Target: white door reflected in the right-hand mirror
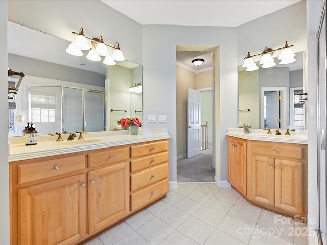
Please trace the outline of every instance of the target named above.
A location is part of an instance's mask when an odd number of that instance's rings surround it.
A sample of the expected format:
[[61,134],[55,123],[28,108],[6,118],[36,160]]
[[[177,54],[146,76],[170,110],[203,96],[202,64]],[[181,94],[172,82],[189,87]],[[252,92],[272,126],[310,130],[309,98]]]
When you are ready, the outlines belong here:
[[279,91],[265,94],[266,97],[266,118],[265,128],[278,129],[279,125]]

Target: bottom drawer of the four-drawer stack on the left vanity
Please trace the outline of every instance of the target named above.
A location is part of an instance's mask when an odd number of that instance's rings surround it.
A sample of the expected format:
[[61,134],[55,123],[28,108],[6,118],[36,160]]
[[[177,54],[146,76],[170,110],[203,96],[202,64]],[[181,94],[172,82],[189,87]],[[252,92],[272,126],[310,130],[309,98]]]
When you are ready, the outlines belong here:
[[158,198],[164,196],[169,191],[168,179],[162,180],[143,190],[131,194],[131,211],[146,206]]

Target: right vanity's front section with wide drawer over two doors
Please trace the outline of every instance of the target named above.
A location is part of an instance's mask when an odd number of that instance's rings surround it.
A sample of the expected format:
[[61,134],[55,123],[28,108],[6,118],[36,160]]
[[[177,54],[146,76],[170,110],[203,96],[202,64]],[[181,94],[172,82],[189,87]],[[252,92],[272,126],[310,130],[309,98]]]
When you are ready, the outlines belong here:
[[277,212],[306,216],[307,147],[248,141],[248,152],[247,198]]

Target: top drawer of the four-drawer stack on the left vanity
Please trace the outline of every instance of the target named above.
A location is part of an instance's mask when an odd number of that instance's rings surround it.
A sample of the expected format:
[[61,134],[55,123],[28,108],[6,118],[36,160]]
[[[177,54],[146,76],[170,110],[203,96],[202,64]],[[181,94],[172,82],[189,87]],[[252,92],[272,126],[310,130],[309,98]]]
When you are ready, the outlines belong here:
[[131,158],[168,151],[168,141],[135,145],[131,147]]

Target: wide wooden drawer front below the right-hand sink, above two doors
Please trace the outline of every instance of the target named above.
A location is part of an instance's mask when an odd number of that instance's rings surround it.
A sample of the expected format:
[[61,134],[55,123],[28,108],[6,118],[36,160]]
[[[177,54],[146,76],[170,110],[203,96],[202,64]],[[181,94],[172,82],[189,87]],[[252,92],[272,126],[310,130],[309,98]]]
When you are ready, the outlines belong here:
[[286,143],[267,143],[252,141],[252,154],[268,155],[273,157],[285,157],[292,159],[303,159],[304,149],[301,145]]

